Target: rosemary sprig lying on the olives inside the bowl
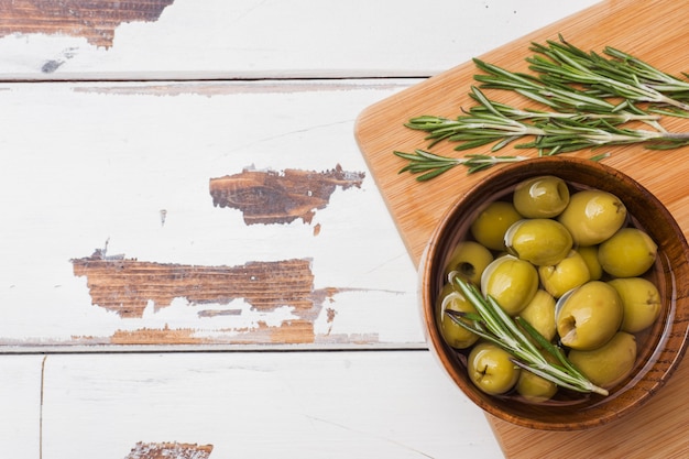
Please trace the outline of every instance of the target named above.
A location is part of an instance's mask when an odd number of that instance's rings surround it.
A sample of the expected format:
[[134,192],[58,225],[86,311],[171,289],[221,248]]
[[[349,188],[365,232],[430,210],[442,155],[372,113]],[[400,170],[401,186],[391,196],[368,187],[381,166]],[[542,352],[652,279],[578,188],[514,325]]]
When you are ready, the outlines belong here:
[[[581,374],[560,348],[550,343],[527,321],[521,319],[515,321],[492,296],[484,297],[473,284],[463,281],[461,276],[450,274],[450,280],[478,312],[478,315],[472,315],[446,310],[446,314],[459,326],[510,352],[514,358],[514,363],[518,367],[561,387],[577,392],[609,394],[605,389],[597,386]],[[523,327],[528,336],[520,327]],[[555,357],[559,364],[549,362],[529,338],[533,338],[543,351]]]

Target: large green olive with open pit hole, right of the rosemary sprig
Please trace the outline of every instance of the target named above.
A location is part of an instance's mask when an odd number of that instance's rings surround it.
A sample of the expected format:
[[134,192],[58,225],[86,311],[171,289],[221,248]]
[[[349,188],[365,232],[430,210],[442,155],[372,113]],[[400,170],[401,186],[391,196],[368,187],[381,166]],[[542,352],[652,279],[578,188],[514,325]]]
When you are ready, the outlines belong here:
[[557,304],[557,332],[562,345],[592,350],[608,342],[622,323],[622,299],[611,285],[591,281],[570,291]]

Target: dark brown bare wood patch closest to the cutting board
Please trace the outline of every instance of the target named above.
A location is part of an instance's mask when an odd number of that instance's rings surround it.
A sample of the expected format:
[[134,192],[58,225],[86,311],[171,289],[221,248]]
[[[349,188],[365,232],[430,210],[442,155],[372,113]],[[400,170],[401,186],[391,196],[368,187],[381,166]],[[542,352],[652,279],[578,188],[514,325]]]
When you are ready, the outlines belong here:
[[364,176],[362,172],[342,171],[339,164],[326,172],[244,170],[211,178],[210,196],[216,207],[240,210],[247,225],[289,223],[299,218],[310,223],[316,210],[328,205],[338,186],[360,187]]

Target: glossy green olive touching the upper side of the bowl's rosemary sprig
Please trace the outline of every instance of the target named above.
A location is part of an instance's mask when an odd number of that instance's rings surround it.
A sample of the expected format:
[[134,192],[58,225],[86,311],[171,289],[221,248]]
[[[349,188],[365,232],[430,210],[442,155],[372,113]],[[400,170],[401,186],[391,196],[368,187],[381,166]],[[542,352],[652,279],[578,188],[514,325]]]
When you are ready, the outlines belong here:
[[538,272],[527,261],[512,255],[495,259],[481,276],[481,292],[491,295],[510,315],[516,315],[538,289]]

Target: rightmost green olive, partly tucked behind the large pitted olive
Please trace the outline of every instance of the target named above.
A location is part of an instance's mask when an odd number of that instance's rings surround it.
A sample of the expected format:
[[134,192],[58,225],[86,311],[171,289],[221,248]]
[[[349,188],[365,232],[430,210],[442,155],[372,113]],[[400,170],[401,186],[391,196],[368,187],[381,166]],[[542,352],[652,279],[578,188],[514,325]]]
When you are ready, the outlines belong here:
[[653,282],[644,277],[620,277],[608,283],[622,298],[622,331],[635,334],[656,321],[660,315],[660,294]]

